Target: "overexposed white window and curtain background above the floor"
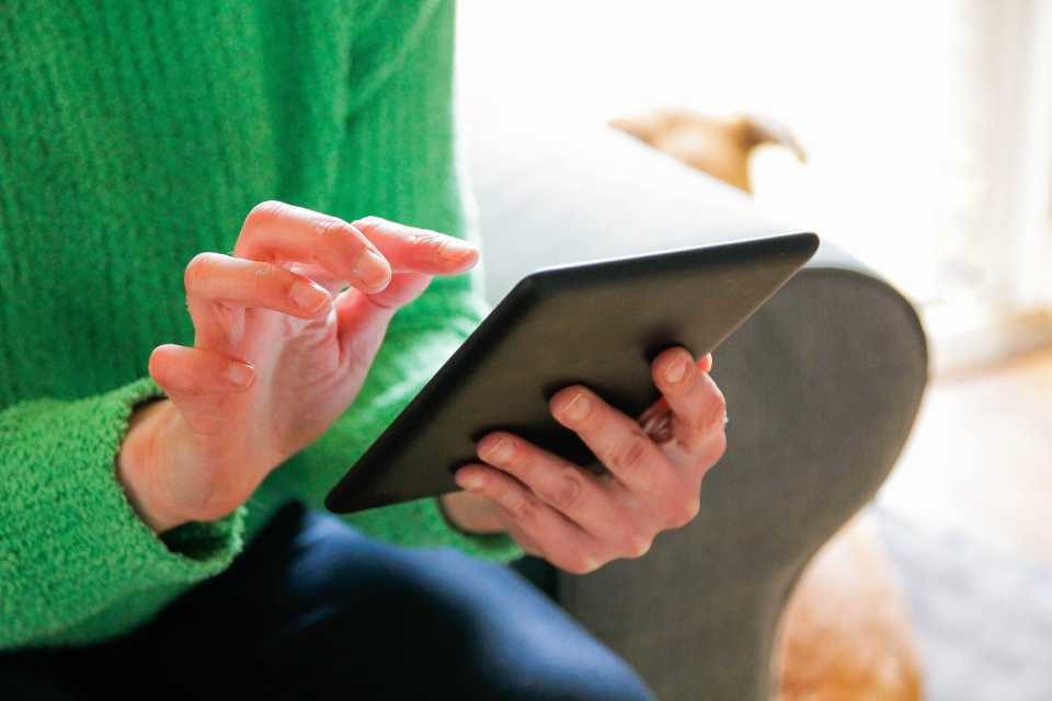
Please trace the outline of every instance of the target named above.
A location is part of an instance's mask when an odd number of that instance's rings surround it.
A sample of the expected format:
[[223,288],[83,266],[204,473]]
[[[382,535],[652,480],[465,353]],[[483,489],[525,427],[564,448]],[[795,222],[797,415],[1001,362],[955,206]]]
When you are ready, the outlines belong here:
[[[758,203],[879,269],[929,329],[1052,302],[1047,2],[467,0],[460,18],[464,89],[539,123],[668,106],[784,123],[808,163],[756,153]],[[1017,343],[1052,341],[1043,322]]]

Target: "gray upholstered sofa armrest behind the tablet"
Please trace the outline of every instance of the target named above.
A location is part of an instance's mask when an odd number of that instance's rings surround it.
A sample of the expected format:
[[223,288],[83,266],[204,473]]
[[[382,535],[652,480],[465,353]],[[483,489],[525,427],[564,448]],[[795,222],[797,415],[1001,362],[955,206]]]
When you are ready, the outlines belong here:
[[[461,133],[493,302],[541,265],[796,230],[601,125],[539,127],[469,105]],[[782,605],[891,470],[926,359],[906,300],[824,243],[714,354],[729,448],[699,517],[642,559],[586,576],[535,562],[534,578],[660,698],[769,698]]]

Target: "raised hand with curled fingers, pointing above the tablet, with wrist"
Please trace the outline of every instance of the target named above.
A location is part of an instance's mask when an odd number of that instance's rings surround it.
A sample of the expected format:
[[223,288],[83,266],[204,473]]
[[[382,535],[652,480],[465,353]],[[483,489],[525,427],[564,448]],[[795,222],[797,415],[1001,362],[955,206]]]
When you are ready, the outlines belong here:
[[244,503],[351,405],[395,312],[478,255],[378,217],[253,208],[232,256],[201,253],[186,266],[194,346],[150,356],[168,399],[135,413],[117,457],[144,520],[162,532]]

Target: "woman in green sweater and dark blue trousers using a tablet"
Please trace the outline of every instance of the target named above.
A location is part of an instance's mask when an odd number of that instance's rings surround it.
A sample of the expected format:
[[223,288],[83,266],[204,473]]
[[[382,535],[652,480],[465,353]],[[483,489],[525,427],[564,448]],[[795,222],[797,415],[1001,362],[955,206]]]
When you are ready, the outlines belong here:
[[499,563],[690,520],[708,356],[654,360],[660,443],[552,398],[610,479],[492,434],[465,492],[319,510],[487,312],[451,2],[8,3],[0,33],[0,686],[648,698]]

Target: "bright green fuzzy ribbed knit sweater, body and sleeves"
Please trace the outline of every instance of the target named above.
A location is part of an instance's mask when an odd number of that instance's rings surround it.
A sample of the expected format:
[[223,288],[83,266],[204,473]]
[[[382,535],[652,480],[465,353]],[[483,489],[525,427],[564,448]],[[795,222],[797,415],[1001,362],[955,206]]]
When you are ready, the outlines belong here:
[[[115,457],[146,366],[193,345],[183,269],[256,203],[477,241],[453,114],[454,8],[389,2],[0,0],[0,648],[125,632],[222,572],[288,499],[321,506],[489,308],[481,268],[393,319],[365,386],[249,503],[159,538]],[[435,499],[347,517],[507,561]]]

